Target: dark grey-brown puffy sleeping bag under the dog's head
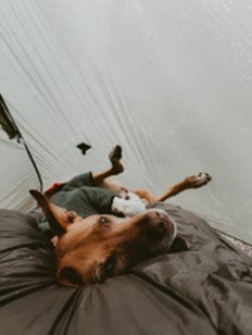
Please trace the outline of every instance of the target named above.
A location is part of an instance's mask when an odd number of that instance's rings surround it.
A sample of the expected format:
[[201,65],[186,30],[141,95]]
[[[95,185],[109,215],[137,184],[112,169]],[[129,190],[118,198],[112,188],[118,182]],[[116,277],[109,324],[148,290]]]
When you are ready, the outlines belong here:
[[251,334],[252,262],[206,222],[177,222],[173,249],[103,284],[62,287],[52,245],[32,215],[0,211],[2,334]]

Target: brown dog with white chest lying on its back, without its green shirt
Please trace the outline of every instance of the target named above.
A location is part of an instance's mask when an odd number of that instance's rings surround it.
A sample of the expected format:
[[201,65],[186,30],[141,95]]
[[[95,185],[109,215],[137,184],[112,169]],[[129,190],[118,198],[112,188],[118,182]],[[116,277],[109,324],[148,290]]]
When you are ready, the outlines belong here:
[[[71,206],[68,200],[65,202],[67,209],[59,206],[64,204],[62,191],[58,197],[58,201],[61,201],[55,204],[53,198],[49,200],[42,193],[30,190],[56,236],[56,280],[63,286],[102,283],[109,277],[126,273],[151,257],[167,252],[176,236],[176,223],[165,211],[148,209],[148,206],[164,201],[185,189],[201,187],[211,179],[207,173],[192,175],[161,197],[154,197],[148,190],[128,190],[110,178],[124,171],[121,159],[122,148],[116,146],[110,154],[111,167],[102,173],[89,174],[91,186],[80,186],[78,178],[70,182],[68,186],[66,183],[66,193],[70,193],[72,201]],[[79,215],[74,208],[72,210],[75,203],[73,197],[78,194],[78,190],[70,187],[75,185],[81,191],[92,190],[93,187],[98,194],[108,191],[109,196],[113,195],[111,213],[98,212],[85,216]],[[99,199],[102,201],[103,196]]]

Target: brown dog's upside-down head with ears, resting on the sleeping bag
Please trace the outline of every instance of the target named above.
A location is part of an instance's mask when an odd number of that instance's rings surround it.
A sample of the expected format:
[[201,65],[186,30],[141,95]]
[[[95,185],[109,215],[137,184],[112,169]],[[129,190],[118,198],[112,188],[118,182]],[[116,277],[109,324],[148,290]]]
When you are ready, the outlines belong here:
[[91,215],[86,219],[52,204],[30,190],[58,236],[56,277],[62,285],[101,283],[155,255],[166,252],[176,225],[167,213],[151,209],[130,219]]

